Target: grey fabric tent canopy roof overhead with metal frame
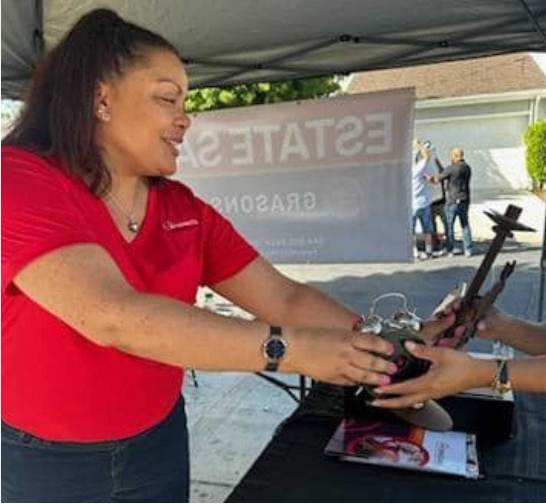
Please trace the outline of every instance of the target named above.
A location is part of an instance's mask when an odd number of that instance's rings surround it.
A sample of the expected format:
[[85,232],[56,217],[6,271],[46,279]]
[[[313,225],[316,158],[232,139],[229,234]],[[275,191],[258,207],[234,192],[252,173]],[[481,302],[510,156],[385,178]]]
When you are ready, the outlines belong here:
[[104,6],[171,41],[191,87],[546,47],[543,0],[4,0],[2,97],[19,97],[43,50]]

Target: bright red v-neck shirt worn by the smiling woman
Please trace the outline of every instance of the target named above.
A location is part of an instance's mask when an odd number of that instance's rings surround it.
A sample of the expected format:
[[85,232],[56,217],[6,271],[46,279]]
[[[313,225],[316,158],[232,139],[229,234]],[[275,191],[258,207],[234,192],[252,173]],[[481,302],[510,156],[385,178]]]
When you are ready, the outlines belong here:
[[2,148],[2,420],[47,440],[122,439],[168,415],[183,371],[94,344],[13,284],[32,260],[75,243],[103,247],[136,290],[188,304],[199,285],[229,278],[258,253],[185,185],[167,180],[149,188],[145,220],[127,242],[79,179]]

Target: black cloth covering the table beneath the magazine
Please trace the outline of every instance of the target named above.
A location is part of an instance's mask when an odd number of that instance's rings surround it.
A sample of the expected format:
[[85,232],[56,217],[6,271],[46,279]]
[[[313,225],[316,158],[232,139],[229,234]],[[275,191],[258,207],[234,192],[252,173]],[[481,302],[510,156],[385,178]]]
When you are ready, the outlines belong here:
[[544,406],[542,394],[516,395],[517,434],[478,443],[483,477],[476,481],[327,457],[343,391],[319,383],[226,502],[546,502]]

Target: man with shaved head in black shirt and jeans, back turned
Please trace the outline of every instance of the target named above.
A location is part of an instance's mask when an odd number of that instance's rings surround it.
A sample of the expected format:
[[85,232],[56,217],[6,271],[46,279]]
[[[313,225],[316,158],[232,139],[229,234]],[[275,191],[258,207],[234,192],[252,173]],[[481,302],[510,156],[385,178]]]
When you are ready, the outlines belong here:
[[[472,255],[472,233],[468,222],[468,207],[470,206],[470,177],[472,170],[464,159],[461,147],[454,147],[450,153],[451,164],[439,176],[431,177],[430,181],[441,183],[447,181],[446,198],[446,251],[453,255],[455,218],[459,217],[462,228],[462,243],[465,255]],[[439,162],[439,161],[438,161]]]

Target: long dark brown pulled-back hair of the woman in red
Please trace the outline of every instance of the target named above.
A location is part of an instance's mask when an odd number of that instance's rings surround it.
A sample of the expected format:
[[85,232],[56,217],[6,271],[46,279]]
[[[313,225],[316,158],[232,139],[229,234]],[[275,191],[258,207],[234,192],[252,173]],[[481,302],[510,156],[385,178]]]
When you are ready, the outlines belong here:
[[105,77],[120,77],[145,62],[153,49],[177,53],[160,35],[121,19],[109,9],[80,18],[35,70],[25,108],[2,145],[55,157],[93,193],[110,187],[110,173],[94,142],[94,95]]

